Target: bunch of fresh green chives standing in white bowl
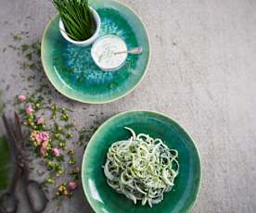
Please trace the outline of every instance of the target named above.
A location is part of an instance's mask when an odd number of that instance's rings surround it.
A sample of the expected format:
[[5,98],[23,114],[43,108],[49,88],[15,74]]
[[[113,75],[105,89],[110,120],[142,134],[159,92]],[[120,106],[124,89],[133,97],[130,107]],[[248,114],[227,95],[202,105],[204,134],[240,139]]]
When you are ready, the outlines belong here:
[[72,40],[85,41],[96,31],[96,21],[88,0],[53,0],[65,31]]

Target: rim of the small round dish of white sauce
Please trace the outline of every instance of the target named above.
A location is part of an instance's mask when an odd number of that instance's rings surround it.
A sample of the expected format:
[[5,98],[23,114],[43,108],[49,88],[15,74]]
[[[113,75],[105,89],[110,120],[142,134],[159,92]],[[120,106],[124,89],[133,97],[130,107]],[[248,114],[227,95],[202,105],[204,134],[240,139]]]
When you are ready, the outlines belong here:
[[114,35],[114,34],[107,34],[107,35],[103,35],[103,36],[99,37],[96,40],[96,42],[93,44],[92,49],[91,49],[91,56],[93,57],[93,59],[94,59],[94,61],[96,63],[96,66],[99,67],[100,69],[104,70],[104,71],[114,71],[114,70],[120,69],[124,65],[124,63],[125,63],[125,61],[127,59],[128,53],[123,58],[123,61],[122,61],[122,63],[120,65],[118,65],[117,67],[110,68],[110,69],[107,69],[107,68],[104,68],[104,67],[100,66],[100,64],[95,59],[95,56],[93,55],[93,52],[95,52],[94,50],[96,48],[96,44],[98,44],[99,42],[101,42],[105,38],[115,38],[115,39],[118,39],[120,42],[122,42],[122,44],[125,45],[125,50],[123,50],[123,51],[127,51],[128,50],[127,44],[122,40],[122,38],[120,38],[119,36]]

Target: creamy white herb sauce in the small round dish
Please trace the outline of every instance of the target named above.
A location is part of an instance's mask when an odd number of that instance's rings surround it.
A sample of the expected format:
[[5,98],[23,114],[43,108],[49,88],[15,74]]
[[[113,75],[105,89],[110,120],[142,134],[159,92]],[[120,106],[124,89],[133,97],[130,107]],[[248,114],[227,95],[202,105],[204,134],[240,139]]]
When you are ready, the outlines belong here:
[[126,44],[116,35],[100,37],[92,47],[92,57],[100,69],[113,70],[122,66],[127,58],[127,53],[115,54],[127,51]]

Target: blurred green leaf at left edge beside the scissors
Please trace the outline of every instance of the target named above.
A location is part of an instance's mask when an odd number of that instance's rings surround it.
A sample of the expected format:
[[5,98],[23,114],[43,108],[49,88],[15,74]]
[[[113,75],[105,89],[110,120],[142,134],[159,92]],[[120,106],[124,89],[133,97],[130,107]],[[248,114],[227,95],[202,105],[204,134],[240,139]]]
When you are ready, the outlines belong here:
[[0,136],[0,194],[6,191],[12,176],[12,162],[5,136]]

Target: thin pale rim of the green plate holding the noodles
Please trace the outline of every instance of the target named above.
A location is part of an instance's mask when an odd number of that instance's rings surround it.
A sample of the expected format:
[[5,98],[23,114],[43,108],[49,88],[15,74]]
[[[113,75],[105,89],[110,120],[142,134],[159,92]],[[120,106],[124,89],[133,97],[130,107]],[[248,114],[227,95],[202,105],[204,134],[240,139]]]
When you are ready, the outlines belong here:
[[103,122],[103,123],[97,128],[96,132],[95,132],[95,133],[93,134],[93,136],[91,137],[91,139],[90,139],[89,143],[87,144],[86,149],[85,149],[85,151],[84,151],[84,153],[83,153],[81,177],[82,177],[82,184],[83,184],[83,192],[84,192],[84,194],[85,194],[85,196],[86,196],[87,201],[89,202],[90,206],[94,209],[94,211],[96,211],[96,207],[93,205],[93,201],[90,199],[90,196],[89,196],[89,194],[88,194],[88,192],[87,192],[87,190],[86,190],[86,188],[85,188],[85,183],[84,183],[84,181],[83,181],[83,180],[84,180],[84,176],[86,175],[86,174],[83,172],[83,171],[84,171],[83,165],[85,164],[85,160],[86,160],[85,158],[86,158],[87,152],[89,152],[88,150],[89,150],[91,144],[93,143],[94,138],[96,137],[96,133],[99,132],[105,125],[107,125],[107,124],[108,124],[110,121],[112,121],[113,119],[116,119],[116,118],[118,118],[118,117],[120,117],[120,116],[123,116],[123,115],[125,115],[125,114],[135,113],[135,112],[153,113],[153,114],[157,114],[157,115],[160,115],[160,116],[162,116],[162,117],[165,117],[165,118],[171,120],[172,122],[174,122],[176,125],[178,125],[178,126],[186,133],[186,135],[190,138],[192,144],[194,144],[195,149],[196,149],[197,154],[198,154],[198,161],[199,161],[199,179],[198,179],[198,188],[197,188],[197,191],[196,191],[196,193],[197,193],[197,194],[196,194],[196,197],[195,197],[194,200],[192,200],[192,202],[189,204],[189,206],[188,206],[187,209],[186,209],[186,210],[189,212],[189,211],[192,209],[192,207],[195,205],[196,201],[198,200],[198,194],[199,194],[199,192],[200,192],[200,187],[201,187],[201,178],[202,178],[202,171],[201,171],[201,168],[202,168],[202,164],[201,164],[201,157],[200,157],[200,153],[199,153],[199,150],[198,150],[198,146],[197,146],[197,144],[194,142],[194,140],[193,140],[193,138],[191,137],[191,135],[186,132],[186,129],[183,128],[183,127],[177,122],[177,120],[171,118],[170,116],[167,116],[167,115],[164,114],[164,113],[160,113],[160,112],[153,111],[153,110],[143,110],[143,109],[141,109],[141,110],[124,111],[124,112],[118,113],[117,115],[114,115],[113,117],[107,119],[105,122]]

